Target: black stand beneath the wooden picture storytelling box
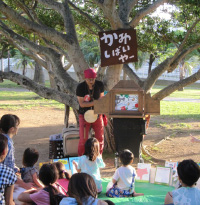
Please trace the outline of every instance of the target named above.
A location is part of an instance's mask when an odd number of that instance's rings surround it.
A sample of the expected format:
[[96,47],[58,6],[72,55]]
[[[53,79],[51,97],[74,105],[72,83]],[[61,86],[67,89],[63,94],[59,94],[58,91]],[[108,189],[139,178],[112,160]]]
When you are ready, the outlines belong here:
[[145,120],[141,118],[114,118],[113,129],[116,151],[129,149],[136,158],[140,155],[140,145],[145,134]]

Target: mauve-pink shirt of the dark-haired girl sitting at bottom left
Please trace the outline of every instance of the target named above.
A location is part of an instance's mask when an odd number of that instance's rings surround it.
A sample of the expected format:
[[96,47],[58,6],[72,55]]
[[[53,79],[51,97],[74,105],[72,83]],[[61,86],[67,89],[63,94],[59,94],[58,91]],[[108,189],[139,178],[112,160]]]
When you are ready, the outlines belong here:
[[36,193],[30,194],[30,198],[38,205],[50,205],[49,193],[43,189]]

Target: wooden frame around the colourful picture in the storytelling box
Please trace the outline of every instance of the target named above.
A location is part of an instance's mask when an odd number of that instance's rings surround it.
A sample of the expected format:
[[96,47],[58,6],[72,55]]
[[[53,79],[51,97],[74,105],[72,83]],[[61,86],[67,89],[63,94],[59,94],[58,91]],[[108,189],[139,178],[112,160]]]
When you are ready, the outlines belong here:
[[[129,109],[128,108],[128,103],[129,101],[126,101],[126,102],[122,102],[122,108],[124,107],[124,109],[121,109],[121,110],[118,110],[118,108],[116,108],[116,100],[117,100],[117,97],[119,95],[122,95],[122,98],[123,96],[127,96],[127,98],[130,97],[130,99],[132,99],[133,96],[136,96],[137,97],[137,100],[134,102],[136,103],[137,102],[137,109],[135,110],[131,110],[131,108]],[[144,107],[144,101],[143,101],[143,91],[125,91],[125,90],[114,90],[111,92],[111,100],[110,100],[110,116],[112,117],[123,117],[126,116],[127,118],[129,117],[143,117],[144,115],[144,112],[143,112],[143,107]],[[134,105],[134,104],[133,104]]]

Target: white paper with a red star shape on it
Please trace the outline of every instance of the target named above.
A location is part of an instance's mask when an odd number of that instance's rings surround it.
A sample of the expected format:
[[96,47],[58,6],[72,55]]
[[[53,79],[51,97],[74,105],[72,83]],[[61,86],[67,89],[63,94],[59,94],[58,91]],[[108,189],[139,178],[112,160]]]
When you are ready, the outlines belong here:
[[138,163],[136,180],[149,182],[151,164]]

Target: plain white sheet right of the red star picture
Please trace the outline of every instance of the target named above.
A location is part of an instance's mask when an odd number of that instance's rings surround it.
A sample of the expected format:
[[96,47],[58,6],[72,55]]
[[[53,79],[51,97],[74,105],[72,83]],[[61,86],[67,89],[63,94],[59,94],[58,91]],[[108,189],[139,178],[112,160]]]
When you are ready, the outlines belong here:
[[157,167],[155,183],[169,185],[171,177],[171,167]]

